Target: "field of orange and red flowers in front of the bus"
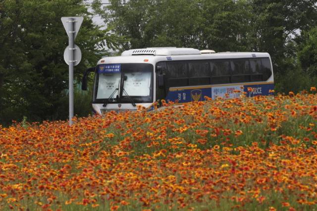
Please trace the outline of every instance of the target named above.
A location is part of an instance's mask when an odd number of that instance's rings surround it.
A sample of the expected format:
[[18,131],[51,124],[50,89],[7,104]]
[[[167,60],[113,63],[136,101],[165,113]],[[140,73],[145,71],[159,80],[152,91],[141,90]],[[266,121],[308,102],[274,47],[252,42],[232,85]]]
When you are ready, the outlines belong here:
[[317,210],[316,94],[166,106],[0,126],[0,210]]

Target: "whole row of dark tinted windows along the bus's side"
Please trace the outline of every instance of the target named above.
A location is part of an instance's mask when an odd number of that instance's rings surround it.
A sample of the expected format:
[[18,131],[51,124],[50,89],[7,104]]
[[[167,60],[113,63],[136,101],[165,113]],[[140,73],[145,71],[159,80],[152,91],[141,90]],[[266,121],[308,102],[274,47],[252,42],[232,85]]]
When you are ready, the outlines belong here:
[[266,81],[272,74],[269,58],[164,61],[157,65],[169,87]]

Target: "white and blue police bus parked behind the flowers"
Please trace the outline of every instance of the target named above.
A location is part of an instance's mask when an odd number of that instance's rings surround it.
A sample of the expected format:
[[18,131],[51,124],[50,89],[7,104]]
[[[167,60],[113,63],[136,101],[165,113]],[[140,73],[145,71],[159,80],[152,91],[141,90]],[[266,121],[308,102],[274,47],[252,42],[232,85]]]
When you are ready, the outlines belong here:
[[[207,53],[205,53],[207,52]],[[271,95],[273,69],[268,53],[211,53],[190,48],[147,48],[100,59],[87,69],[95,73],[94,112],[151,109],[164,99],[179,104],[204,101],[204,96],[235,98]],[[249,88],[249,91],[248,91]]]

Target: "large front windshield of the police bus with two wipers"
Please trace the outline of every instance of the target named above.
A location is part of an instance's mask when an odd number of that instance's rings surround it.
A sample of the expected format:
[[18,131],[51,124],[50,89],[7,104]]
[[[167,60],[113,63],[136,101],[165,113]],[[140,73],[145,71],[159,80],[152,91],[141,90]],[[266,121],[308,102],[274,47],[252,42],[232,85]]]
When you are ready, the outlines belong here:
[[153,103],[152,64],[101,64],[97,66],[94,102]]

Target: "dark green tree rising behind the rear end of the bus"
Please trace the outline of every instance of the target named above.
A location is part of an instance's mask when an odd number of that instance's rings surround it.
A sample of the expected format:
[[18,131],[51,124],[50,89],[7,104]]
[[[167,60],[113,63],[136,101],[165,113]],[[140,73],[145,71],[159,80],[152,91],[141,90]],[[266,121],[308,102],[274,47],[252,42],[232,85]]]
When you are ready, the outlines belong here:
[[[279,73],[287,54],[288,45],[301,31],[316,26],[317,0],[251,0],[252,50],[268,52]],[[289,53],[289,52],[288,52]],[[293,53],[296,53],[293,52]]]

